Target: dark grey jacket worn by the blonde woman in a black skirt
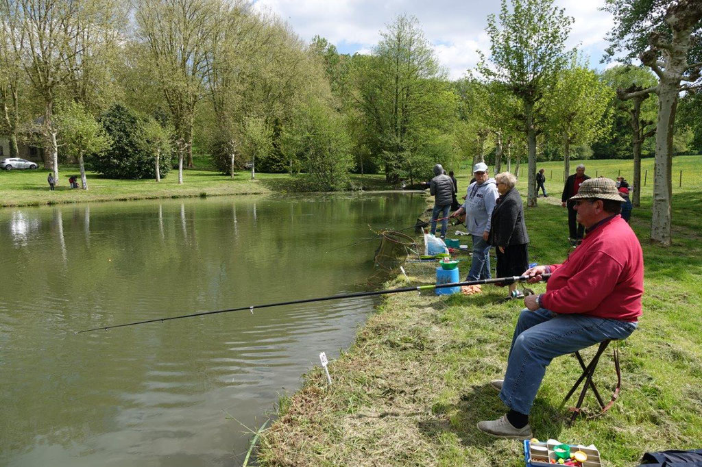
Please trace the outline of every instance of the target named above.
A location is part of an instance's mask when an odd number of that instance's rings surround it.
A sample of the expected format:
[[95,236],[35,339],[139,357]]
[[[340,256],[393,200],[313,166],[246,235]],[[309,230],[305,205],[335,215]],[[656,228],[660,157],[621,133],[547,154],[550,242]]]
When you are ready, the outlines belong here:
[[488,243],[495,247],[529,243],[527,225],[524,224],[524,204],[516,188],[497,198]]

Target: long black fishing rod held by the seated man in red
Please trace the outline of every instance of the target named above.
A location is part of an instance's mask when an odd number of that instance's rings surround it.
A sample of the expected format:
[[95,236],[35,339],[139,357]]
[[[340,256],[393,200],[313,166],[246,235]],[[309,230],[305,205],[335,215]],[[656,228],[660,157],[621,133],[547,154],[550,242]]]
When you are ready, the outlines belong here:
[[[548,278],[548,276],[550,276],[550,274],[541,274],[542,280]],[[512,277],[503,277],[503,278],[494,278],[494,279],[468,280],[468,281],[464,281],[464,282],[453,282],[453,283],[447,283],[447,284],[417,285],[416,287],[402,287],[399,289],[376,290],[373,292],[354,292],[354,293],[343,294],[343,295],[330,295],[329,297],[318,297],[318,298],[312,298],[312,299],[291,300],[289,302],[277,302],[277,303],[269,303],[269,304],[263,304],[263,305],[239,306],[239,308],[230,308],[230,309],[217,310],[217,311],[203,311],[201,313],[191,313],[189,315],[180,315],[180,316],[171,316],[168,318],[156,318],[156,319],[152,319],[152,320],[135,321],[133,323],[124,323],[121,325],[93,327],[92,329],[78,331],[76,334],[81,334],[82,332],[92,332],[92,331],[100,331],[100,330],[107,331],[108,329],[114,329],[115,327],[135,326],[135,325],[146,324],[146,323],[158,323],[159,321],[161,323],[163,323],[164,321],[169,321],[169,320],[179,320],[181,318],[194,318],[195,316],[216,315],[218,313],[230,313],[231,311],[249,310],[249,311],[251,311],[251,313],[253,313],[254,309],[270,308],[272,306],[295,305],[295,304],[312,303],[312,302],[326,302],[327,300],[338,300],[338,299],[345,299],[345,298],[373,297],[374,295],[397,294],[400,292],[421,292],[422,290],[435,290],[435,289],[443,289],[446,287],[462,287],[464,285],[483,285],[483,284],[494,284],[494,283],[503,283],[503,284],[507,285],[507,284],[512,284],[515,282],[526,282],[529,279],[531,279],[531,277],[529,277],[529,276],[512,276]]]

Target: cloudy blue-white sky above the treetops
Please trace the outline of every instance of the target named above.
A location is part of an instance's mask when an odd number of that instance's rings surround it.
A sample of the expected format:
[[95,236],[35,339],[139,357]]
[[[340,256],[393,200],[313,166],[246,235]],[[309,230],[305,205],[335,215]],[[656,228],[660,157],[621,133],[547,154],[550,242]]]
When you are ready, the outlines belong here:
[[[575,19],[567,46],[578,46],[590,58],[590,67],[602,70],[607,47],[605,34],[613,27],[609,13],[599,11],[604,0],[555,0]],[[451,79],[475,67],[476,50],[489,53],[485,33],[487,15],[497,14],[498,0],[256,0],[254,8],[272,12],[309,42],[319,35],[340,53],[370,53],[397,15],[416,16],[439,62]]]

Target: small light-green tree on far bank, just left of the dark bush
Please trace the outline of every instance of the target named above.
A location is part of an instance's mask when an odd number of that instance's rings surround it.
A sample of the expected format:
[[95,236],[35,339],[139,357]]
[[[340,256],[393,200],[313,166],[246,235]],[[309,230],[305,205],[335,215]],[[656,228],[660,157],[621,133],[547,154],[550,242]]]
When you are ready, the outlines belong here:
[[105,128],[81,104],[71,102],[55,116],[58,137],[63,150],[78,156],[81,185],[88,189],[84,156],[99,156],[112,146],[112,138]]

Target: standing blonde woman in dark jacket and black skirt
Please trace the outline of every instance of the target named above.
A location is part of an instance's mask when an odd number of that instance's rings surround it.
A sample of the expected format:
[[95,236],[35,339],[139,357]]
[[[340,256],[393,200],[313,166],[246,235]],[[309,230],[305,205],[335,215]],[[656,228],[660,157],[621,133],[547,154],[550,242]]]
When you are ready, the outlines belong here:
[[[492,211],[488,242],[497,253],[497,277],[521,276],[529,269],[527,226],[524,224],[524,205],[515,188],[517,178],[510,172],[495,175],[500,197]],[[517,288],[510,284],[510,295]]]

